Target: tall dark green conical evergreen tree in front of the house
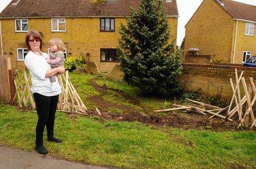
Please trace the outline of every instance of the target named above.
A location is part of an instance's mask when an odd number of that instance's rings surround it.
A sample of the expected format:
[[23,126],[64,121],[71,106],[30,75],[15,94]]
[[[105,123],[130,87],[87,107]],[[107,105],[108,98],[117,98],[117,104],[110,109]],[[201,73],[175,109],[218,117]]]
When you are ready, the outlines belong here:
[[181,58],[175,42],[168,43],[170,27],[162,1],[142,0],[126,22],[119,29],[117,50],[125,81],[146,95],[176,95]]

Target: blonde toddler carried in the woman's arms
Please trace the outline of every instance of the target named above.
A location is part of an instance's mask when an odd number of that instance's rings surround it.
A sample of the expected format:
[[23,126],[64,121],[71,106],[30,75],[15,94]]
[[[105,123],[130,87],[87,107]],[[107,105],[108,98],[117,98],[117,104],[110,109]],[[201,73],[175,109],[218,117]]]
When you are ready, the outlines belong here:
[[[59,66],[64,66],[64,43],[60,39],[54,38],[49,41],[49,55],[47,57],[48,64],[51,64],[52,69]],[[50,77],[51,82],[56,81],[56,75]]]

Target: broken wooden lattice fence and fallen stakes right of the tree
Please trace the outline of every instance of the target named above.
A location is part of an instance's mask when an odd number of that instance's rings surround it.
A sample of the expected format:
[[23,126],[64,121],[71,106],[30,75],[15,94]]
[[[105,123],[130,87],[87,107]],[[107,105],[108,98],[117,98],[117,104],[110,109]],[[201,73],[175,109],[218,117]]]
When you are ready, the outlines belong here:
[[[240,126],[250,126],[250,129],[256,128],[256,117],[254,117],[253,112],[253,105],[256,101],[256,87],[253,82],[253,78],[249,78],[249,87],[247,88],[245,78],[243,77],[243,71],[238,78],[237,69],[235,69],[235,77],[236,85],[234,85],[232,78],[229,79],[233,91],[233,96],[228,107],[221,108],[214,105],[198,102],[196,100],[187,99],[187,104],[173,104],[175,106],[174,108],[161,109],[155,112],[170,112],[179,110],[197,112],[202,115],[210,114],[212,116],[210,116],[209,119],[216,116],[228,121],[238,121],[238,128]],[[240,89],[241,81],[243,90]],[[241,97],[242,94],[244,94],[243,97]]]

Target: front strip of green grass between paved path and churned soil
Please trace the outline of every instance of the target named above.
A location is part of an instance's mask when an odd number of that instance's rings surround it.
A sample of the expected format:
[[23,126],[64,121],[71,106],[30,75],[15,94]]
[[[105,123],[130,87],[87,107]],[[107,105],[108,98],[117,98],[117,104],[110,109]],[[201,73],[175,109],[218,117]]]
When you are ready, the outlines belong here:
[[[0,143],[34,150],[36,113],[2,104]],[[127,168],[256,167],[256,133],[212,132],[146,126],[139,122],[99,121],[56,115],[55,135],[45,142],[53,157]],[[46,137],[44,137],[46,140]]]

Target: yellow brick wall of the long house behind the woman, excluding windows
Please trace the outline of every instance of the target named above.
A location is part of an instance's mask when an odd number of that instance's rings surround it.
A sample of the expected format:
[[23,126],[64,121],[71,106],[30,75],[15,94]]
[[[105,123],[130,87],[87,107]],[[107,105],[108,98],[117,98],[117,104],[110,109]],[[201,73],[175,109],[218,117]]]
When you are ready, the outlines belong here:
[[[24,18],[26,19],[26,18]],[[98,65],[101,72],[109,72],[119,62],[101,62],[101,48],[117,48],[120,22],[124,18],[115,18],[115,32],[100,32],[100,18],[68,18],[66,32],[52,32],[51,19],[28,19],[28,29],[43,33],[43,51],[48,52],[48,41],[57,37],[64,41],[68,57],[86,56]],[[177,37],[177,18],[168,18],[170,23],[170,42]],[[14,69],[25,69],[24,61],[17,61],[17,48],[26,48],[26,32],[15,32],[14,19],[2,19],[3,52],[11,56]]]

